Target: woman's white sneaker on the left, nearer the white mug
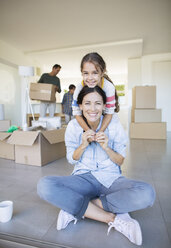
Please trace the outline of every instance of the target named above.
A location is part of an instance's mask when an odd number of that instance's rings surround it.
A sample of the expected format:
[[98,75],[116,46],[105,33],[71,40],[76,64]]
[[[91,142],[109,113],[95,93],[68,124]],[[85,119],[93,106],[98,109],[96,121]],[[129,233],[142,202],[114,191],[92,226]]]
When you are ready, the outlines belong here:
[[74,220],[74,224],[77,223],[77,219],[72,215],[67,213],[64,210],[60,210],[59,215],[58,215],[58,220],[57,220],[57,230],[65,229],[68,224]]

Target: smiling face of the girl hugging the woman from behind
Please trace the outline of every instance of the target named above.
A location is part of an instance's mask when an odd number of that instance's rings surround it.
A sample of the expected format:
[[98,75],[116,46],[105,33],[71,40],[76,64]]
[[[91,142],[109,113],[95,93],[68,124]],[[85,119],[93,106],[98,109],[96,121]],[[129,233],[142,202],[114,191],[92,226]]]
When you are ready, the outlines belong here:
[[89,88],[94,88],[96,85],[101,86],[103,73],[100,69],[96,69],[95,65],[90,62],[85,62],[82,68],[82,76],[84,83]]

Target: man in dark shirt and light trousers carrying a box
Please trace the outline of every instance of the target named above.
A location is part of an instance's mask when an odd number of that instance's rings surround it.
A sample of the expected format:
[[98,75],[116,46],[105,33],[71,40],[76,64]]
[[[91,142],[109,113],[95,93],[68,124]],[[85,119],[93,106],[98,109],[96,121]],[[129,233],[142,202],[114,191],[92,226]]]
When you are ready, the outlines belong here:
[[[55,85],[56,92],[61,92],[61,84],[60,79],[57,77],[57,74],[61,70],[61,66],[55,64],[52,67],[52,71],[50,73],[44,73],[40,77],[38,83],[43,84],[53,84]],[[40,102],[40,117],[46,116],[47,108],[49,110],[49,117],[54,117],[55,109],[56,109],[56,101],[55,102],[48,102],[48,101],[41,101]]]

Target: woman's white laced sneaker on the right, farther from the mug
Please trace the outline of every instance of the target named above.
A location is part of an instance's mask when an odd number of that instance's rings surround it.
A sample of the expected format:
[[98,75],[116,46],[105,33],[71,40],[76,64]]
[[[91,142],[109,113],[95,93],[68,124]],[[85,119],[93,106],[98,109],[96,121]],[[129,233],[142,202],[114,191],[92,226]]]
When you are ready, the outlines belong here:
[[138,221],[132,219],[129,214],[117,214],[113,222],[108,223],[108,234],[112,227],[125,235],[132,243],[142,244],[142,233]]

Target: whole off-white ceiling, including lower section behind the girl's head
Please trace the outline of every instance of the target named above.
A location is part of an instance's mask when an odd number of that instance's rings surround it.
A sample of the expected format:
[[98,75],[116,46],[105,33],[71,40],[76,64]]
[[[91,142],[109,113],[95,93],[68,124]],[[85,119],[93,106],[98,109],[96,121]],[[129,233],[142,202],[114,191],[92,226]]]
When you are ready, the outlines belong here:
[[91,51],[126,73],[128,58],[171,51],[170,13],[170,0],[0,0],[0,39],[63,76]]

